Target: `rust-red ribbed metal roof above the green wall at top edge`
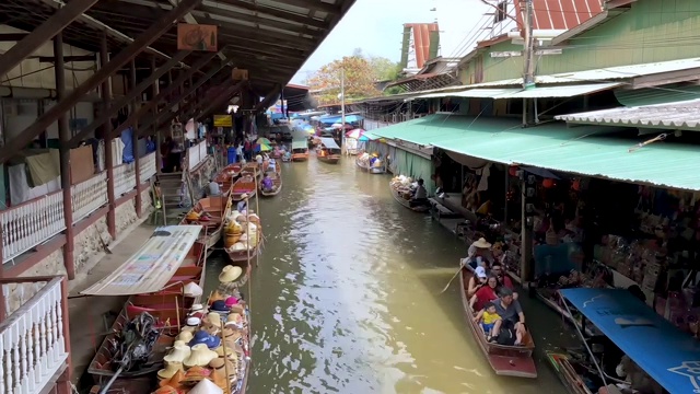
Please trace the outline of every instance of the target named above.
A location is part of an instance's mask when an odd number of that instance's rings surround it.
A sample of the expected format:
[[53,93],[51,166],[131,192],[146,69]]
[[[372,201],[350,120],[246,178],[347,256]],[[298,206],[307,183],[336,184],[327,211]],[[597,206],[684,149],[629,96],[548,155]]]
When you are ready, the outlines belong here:
[[[516,10],[526,10],[524,0],[515,0],[514,3]],[[533,28],[573,28],[602,11],[600,0],[533,0]],[[523,12],[517,12],[517,23],[525,25]]]

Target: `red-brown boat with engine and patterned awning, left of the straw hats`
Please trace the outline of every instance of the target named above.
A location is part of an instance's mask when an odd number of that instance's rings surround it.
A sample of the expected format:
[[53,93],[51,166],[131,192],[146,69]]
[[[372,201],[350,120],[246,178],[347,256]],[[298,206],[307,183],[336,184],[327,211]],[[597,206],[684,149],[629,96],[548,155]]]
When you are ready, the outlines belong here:
[[[129,291],[133,291],[112,326],[110,333],[107,334],[90,362],[88,372],[96,384],[109,384],[110,390],[121,393],[150,393],[155,372],[163,368],[162,359],[166,349],[173,345],[179,328],[185,324],[189,309],[201,299],[201,291],[188,293],[191,287],[189,283],[198,285],[199,290],[203,287],[205,248],[197,242],[200,231],[202,230],[199,225],[158,228],[139,252],[119,269],[82,292],[91,296],[109,296],[116,292],[128,294]],[[187,253],[182,254],[179,252],[182,250],[186,250]],[[175,270],[170,268],[173,263],[177,264]],[[142,271],[145,268],[149,268],[148,273],[135,280],[132,273]],[[167,279],[163,279],[164,277]],[[131,278],[135,283],[129,283],[127,289],[120,288],[128,278]],[[159,290],[130,290],[154,287]],[[153,326],[161,334],[145,364],[132,371],[121,371],[118,376],[115,376],[117,366],[113,360],[118,348],[119,334],[127,324],[144,312],[153,317]],[[114,382],[107,383],[115,378]]]

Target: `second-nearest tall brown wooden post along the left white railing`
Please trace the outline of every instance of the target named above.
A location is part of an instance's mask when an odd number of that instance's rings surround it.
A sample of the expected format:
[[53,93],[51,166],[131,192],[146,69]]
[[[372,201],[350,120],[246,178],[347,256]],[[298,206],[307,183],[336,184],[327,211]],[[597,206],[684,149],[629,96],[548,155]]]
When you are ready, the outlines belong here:
[[[100,47],[100,67],[109,62],[109,49],[107,48],[107,34],[102,36],[102,45]],[[102,82],[102,108],[107,111],[112,102],[112,78],[107,78]],[[114,198],[114,158],[112,155],[112,119],[105,121],[105,167],[107,169],[107,201],[109,210],[107,211],[107,230],[109,235],[115,240],[117,237],[117,223],[115,217]]]

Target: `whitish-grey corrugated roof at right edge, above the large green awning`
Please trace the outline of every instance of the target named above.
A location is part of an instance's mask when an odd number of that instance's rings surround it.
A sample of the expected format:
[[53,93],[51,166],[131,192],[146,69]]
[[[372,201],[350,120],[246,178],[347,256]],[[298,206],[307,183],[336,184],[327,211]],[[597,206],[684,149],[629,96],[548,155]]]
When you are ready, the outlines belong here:
[[700,131],[700,100],[556,116],[574,124]]

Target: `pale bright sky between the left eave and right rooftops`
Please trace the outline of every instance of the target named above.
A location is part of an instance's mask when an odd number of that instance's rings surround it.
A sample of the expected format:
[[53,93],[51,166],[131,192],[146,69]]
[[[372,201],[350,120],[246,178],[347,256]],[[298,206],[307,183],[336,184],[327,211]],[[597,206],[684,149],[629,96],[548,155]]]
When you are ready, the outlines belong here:
[[[431,9],[436,11],[430,11]],[[368,56],[398,61],[401,56],[404,23],[427,23],[438,19],[443,57],[466,55],[465,37],[489,12],[480,0],[357,0],[318,49],[292,79],[303,83],[307,77],[332,60],[362,48]]]

